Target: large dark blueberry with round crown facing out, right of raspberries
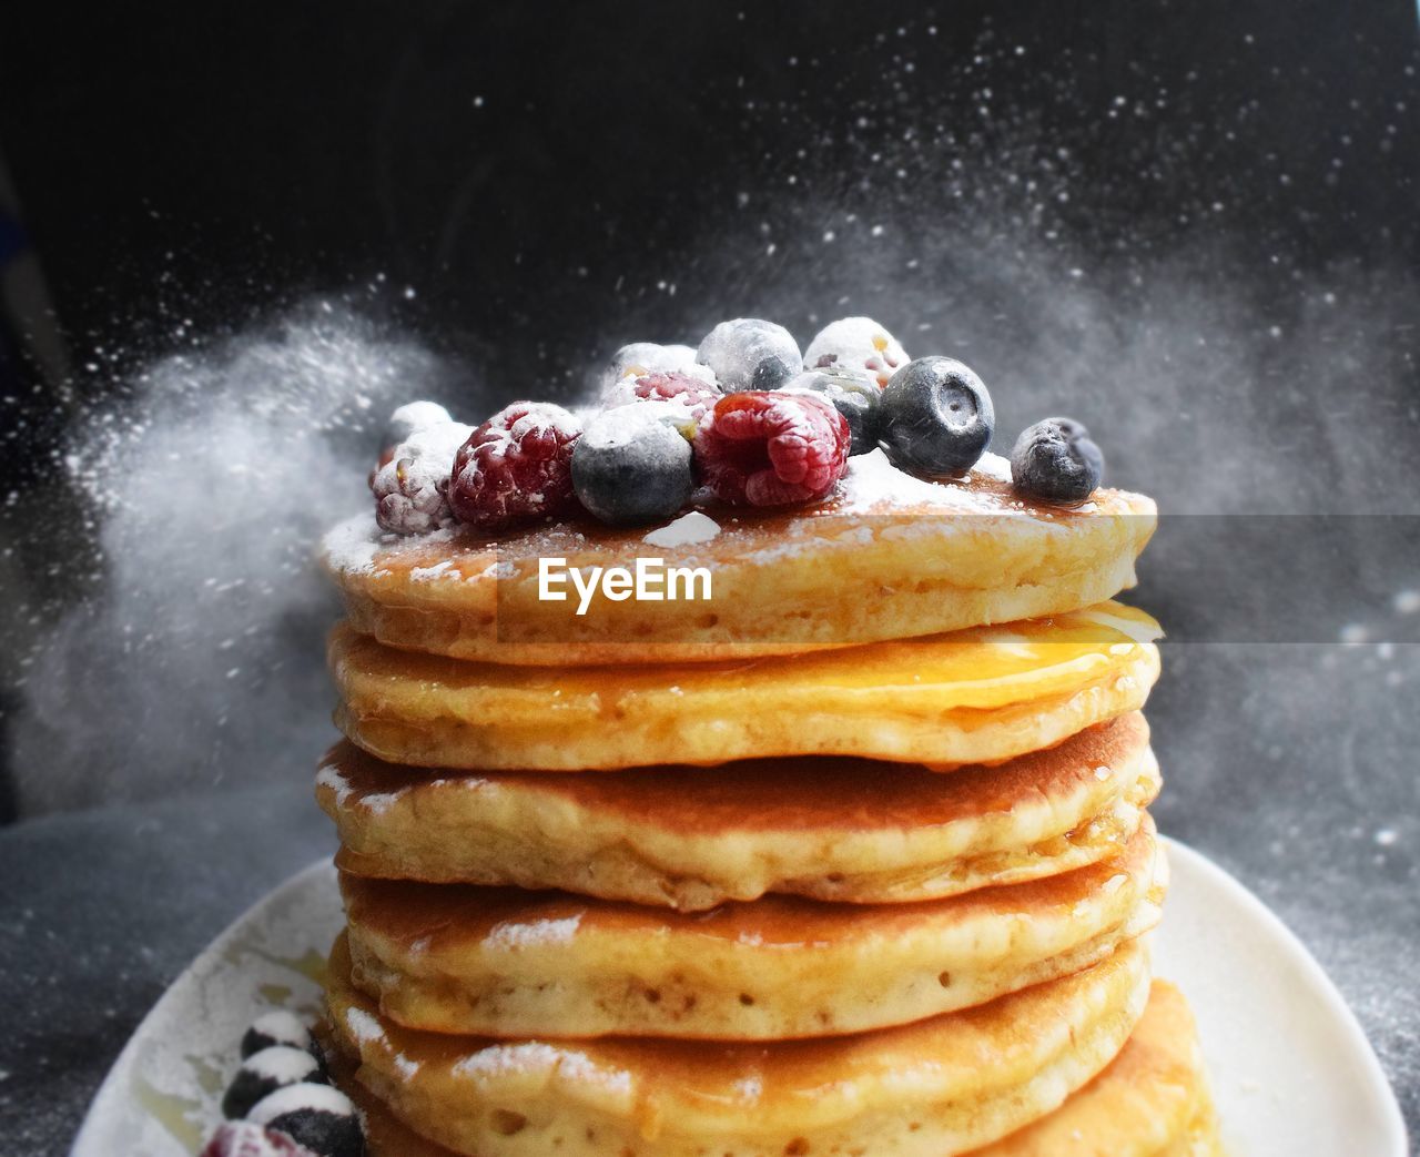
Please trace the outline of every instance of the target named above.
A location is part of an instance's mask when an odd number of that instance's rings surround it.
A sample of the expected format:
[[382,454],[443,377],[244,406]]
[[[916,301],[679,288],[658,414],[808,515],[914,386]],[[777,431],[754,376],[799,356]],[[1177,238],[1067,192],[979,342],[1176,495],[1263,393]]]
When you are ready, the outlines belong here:
[[995,429],[991,393],[953,358],[917,358],[883,389],[879,442],[899,470],[926,477],[976,466]]

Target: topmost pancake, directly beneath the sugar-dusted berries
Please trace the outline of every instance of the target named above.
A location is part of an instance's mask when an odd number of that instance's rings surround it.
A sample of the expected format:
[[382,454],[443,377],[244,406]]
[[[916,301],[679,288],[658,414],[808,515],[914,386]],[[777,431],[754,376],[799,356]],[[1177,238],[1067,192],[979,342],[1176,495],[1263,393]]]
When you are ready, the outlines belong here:
[[[855,457],[835,497],[790,512],[707,505],[707,542],[646,541],[592,521],[503,537],[395,538],[372,514],[325,539],[355,629],[383,643],[515,664],[625,664],[792,654],[1076,610],[1135,583],[1152,500],[1098,490],[1082,507],[1022,500],[1004,459],[930,483]],[[652,534],[652,538],[662,535]],[[538,559],[636,558],[711,572],[709,602],[538,598]]]

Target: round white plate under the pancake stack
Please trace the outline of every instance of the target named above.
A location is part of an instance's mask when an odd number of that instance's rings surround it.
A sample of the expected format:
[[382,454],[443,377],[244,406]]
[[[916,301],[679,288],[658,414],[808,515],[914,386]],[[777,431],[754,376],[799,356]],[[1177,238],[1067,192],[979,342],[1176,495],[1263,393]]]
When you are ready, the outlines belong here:
[[[1223,869],[1167,843],[1156,971],[1198,1016],[1230,1157],[1406,1157],[1376,1055],[1316,961]],[[339,926],[328,862],[240,917],[138,1026],[71,1157],[196,1153],[220,1120],[247,1024],[271,1008],[315,1012],[315,970]]]

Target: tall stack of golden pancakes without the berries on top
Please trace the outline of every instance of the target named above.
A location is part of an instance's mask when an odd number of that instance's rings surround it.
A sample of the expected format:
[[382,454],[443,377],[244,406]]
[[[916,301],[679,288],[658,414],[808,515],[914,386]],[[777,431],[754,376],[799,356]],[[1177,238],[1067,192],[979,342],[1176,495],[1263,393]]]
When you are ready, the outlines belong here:
[[[1108,602],[1153,504],[853,459],[719,532],[327,539],[335,1076],[381,1157],[1216,1153]],[[711,537],[713,534],[713,537]],[[538,559],[709,602],[538,598]]]

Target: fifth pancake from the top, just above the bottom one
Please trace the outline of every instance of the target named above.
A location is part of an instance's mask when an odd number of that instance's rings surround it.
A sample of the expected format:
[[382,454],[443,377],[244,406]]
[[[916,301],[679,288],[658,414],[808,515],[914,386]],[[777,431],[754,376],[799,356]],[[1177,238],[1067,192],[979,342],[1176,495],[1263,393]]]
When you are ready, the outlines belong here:
[[1052,1112],[1123,1048],[1149,997],[1130,941],[1071,977],[858,1036],[774,1045],[494,1042],[405,1029],[331,957],[331,1031],[406,1127],[470,1157],[895,1153],[944,1157]]

